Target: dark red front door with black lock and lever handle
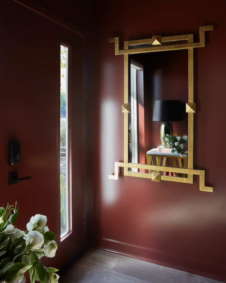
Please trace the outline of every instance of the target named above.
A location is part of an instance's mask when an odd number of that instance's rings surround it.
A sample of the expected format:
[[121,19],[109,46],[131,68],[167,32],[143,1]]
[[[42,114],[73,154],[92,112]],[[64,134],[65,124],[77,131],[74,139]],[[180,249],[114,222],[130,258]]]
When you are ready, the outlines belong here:
[[[17,227],[31,216],[47,216],[58,250],[46,265],[60,268],[83,248],[82,36],[7,2],[5,164],[8,141],[20,141],[21,162],[5,165],[5,202],[19,206]],[[59,118],[60,43],[70,45],[69,103],[72,233],[60,242]],[[2,135],[1,131],[1,135]],[[1,137],[2,139],[3,137]],[[4,139],[4,138],[3,138]],[[8,185],[8,173],[32,179]],[[3,183],[3,181],[2,181]]]

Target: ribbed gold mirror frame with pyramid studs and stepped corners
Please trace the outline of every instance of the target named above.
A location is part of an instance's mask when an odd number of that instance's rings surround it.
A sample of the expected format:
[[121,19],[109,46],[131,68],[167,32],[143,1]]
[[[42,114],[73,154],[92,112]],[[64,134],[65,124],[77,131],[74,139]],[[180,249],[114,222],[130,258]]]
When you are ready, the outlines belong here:
[[[118,180],[119,167],[124,167],[124,176],[132,176],[139,178],[149,178],[152,181],[160,182],[161,180],[193,183],[193,175],[199,175],[199,190],[212,192],[212,187],[205,186],[205,171],[193,169],[193,115],[196,111],[195,103],[193,101],[193,48],[205,47],[205,31],[213,30],[213,26],[199,27],[200,42],[193,43],[193,34],[176,35],[161,37],[161,35],[153,36],[150,39],[133,40],[124,42],[124,50],[119,50],[118,37],[109,39],[109,42],[115,42],[115,55],[124,54],[124,103],[122,104],[122,112],[124,113],[124,162],[115,162],[115,174],[109,175],[109,179]],[[187,43],[177,43],[174,45],[167,45],[167,42],[187,41]],[[164,45],[162,45],[164,43]],[[145,47],[145,45],[150,47]],[[133,45],[143,45],[144,47],[132,48]],[[130,46],[130,49],[129,49]],[[188,49],[188,102],[186,103],[186,112],[188,113],[188,164],[187,168],[174,168],[147,164],[128,163],[128,113],[130,112],[130,105],[128,104],[128,55],[135,53],[148,53],[168,50]],[[152,174],[131,172],[128,168],[138,168],[146,170],[157,170],[173,173],[187,174],[187,178],[176,176],[161,175],[160,172],[152,172]]]

